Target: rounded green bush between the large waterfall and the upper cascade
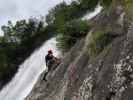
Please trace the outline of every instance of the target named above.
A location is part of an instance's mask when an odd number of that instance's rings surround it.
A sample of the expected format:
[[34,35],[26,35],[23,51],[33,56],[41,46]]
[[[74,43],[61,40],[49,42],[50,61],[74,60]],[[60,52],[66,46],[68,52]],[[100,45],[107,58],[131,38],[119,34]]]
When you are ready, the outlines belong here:
[[72,20],[67,22],[63,29],[59,29],[57,37],[57,46],[64,50],[69,50],[77,40],[86,36],[89,30],[87,21]]

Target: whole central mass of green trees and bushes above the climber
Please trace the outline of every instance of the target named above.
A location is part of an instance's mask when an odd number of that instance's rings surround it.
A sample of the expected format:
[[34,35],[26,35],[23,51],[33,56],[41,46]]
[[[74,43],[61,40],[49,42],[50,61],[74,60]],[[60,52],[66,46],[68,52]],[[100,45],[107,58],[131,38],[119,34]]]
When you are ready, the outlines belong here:
[[57,46],[68,51],[77,40],[89,31],[87,21],[80,18],[88,11],[94,10],[99,0],[77,0],[70,5],[62,2],[49,11],[46,16],[48,25],[52,25],[57,33]]

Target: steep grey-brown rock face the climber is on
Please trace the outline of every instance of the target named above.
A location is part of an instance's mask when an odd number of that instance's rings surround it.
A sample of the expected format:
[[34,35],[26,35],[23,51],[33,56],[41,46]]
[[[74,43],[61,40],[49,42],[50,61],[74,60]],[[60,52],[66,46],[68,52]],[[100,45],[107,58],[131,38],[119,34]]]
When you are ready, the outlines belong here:
[[[133,100],[133,24],[126,24],[122,7],[116,5],[111,12],[114,16],[100,14],[94,18],[96,27],[65,55],[47,82],[40,77],[26,100]],[[93,31],[99,29],[117,37],[90,58],[87,45]]]

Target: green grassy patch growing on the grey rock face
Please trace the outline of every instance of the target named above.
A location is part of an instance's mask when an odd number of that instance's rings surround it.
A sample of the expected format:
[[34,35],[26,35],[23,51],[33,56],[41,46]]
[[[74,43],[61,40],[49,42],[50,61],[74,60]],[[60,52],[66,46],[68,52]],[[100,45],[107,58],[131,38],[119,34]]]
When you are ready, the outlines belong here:
[[99,54],[114,38],[105,32],[95,32],[91,36],[92,41],[88,45],[89,55],[95,57]]

